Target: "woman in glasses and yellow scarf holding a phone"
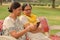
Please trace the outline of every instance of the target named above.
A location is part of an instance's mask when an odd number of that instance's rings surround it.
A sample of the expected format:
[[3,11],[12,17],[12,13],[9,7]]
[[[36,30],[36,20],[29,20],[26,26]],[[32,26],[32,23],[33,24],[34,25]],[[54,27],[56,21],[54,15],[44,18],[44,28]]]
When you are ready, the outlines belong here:
[[[30,38],[30,40],[45,40],[45,39],[50,40],[47,36],[45,36],[45,34],[42,33],[43,31],[41,29],[42,26],[40,23],[40,19],[37,18],[36,15],[32,14],[31,10],[32,10],[32,6],[30,4],[28,3],[23,4],[22,6],[23,15],[19,17],[20,21],[23,23],[24,26],[28,24],[32,24],[36,26],[36,30],[33,30],[34,28],[32,28],[30,32],[27,32],[27,36]],[[48,32],[46,32],[46,34],[48,34]]]

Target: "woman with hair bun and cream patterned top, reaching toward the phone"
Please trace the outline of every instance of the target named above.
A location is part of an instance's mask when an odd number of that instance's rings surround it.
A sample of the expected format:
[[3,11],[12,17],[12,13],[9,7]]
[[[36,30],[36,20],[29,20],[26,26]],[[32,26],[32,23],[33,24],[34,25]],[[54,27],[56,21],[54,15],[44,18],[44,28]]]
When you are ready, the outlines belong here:
[[[26,32],[30,31],[34,26],[28,26],[24,29],[22,22],[18,19],[22,10],[22,6],[18,2],[13,2],[8,11],[9,16],[5,18],[3,23],[3,32],[5,36],[11,36],[17,40],[26,40]],[[35,29],[34,29],[35,30]]]

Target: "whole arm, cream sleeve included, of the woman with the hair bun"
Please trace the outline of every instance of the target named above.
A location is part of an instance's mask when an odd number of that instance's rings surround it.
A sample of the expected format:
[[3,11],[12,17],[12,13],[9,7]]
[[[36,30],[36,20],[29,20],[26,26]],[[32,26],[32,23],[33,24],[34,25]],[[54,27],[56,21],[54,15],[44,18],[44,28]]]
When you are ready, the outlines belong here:
[[[13,27],[13,28],[12,28]],[[3,23],[3,30],[4,32],[8,32],[11,36],[15,37],[15,38],[19,38],[21,37],[23,34],[25,34],[26,32],[29,31],[30,27],[27,27],[26,29],[17,32],[14,28],[14,24],[12,23],[11,20],[5,20]],[[10,29],[10,30],[7,30]],[[8,34],[6,34],[8,35]]]

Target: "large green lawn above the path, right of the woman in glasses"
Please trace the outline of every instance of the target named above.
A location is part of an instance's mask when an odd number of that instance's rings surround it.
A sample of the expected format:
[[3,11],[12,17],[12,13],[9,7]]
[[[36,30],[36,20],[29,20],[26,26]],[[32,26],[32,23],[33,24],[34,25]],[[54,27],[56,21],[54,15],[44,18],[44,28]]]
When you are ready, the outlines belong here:
[[60,9],[34,7],[32,12],[37,16],[45,16],[49,25],[60,25]]

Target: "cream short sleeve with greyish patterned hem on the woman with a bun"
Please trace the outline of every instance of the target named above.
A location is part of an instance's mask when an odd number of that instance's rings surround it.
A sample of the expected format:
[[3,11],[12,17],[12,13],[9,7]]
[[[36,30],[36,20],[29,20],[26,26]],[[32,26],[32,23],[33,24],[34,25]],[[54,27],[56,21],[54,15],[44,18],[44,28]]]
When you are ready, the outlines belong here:
[[4,34],[8,33],[8,32],[11,32],[13,30],[16,30],[13,22],[11,20],[4,20],[4,23],[3,23],[3,32]]

